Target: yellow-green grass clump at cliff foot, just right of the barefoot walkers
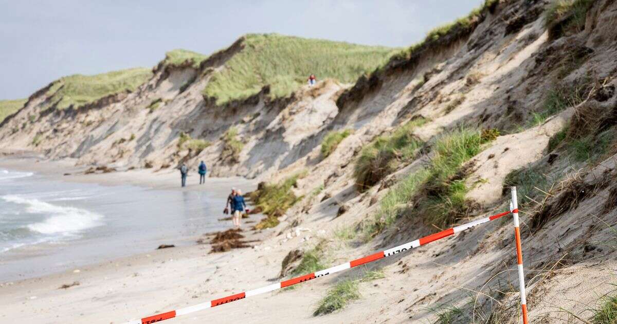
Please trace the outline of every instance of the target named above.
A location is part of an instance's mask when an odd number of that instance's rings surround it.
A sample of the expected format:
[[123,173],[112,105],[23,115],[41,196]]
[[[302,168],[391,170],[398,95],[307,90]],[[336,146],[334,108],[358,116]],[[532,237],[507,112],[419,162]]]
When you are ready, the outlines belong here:
[[255,206],[262,209],[263,214],[267,215],[261,222],[255,225],[255,229],[262,230],[263,228],[274,227],[279,224],[278,217],[285,214],[289,207],[294,206],[302,197],[297,197],[292,191],[292,187],[296,186],[300,174],[293,175],[280,183],[265,184],[263,188],[253,191],[251,194],[252,201]]

